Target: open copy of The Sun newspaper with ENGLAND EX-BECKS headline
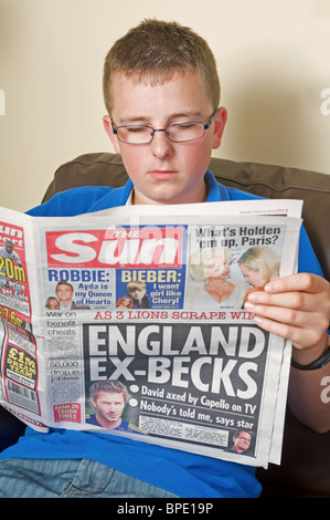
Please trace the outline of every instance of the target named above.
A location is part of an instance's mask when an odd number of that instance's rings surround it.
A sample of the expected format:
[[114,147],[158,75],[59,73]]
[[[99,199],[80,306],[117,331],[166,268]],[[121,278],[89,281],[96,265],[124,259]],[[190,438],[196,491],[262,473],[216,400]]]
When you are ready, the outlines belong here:
[[0,208],[0,404],[39,431],[279,464],[291,345],[244,310],[242,258],[296,272],[301,206]]

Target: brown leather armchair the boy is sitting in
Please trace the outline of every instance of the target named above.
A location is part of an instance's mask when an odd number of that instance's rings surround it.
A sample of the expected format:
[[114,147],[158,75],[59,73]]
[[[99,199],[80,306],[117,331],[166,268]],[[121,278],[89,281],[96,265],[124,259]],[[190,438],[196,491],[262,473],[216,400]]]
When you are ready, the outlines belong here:
[[[210,169],[226,186],[262,197],[304,199],[304,225],[330,279],[330,175],[220,158],[211,159]],[[119,155],[86,154],[57,169],[43,202],[67,188],[116,187],[126,179]],[[330,433],[313,433],[287,409],[281,465],[257,470],[263,497],[330,497],[329,468]]]

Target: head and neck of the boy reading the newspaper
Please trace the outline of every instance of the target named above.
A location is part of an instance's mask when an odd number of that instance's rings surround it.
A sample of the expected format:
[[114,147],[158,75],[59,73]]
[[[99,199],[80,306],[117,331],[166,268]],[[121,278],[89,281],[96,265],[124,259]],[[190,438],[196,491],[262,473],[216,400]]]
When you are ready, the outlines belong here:
[[205,201],[226,122],[205,41],[174,22],[145,21],[108,52],[104,92],[105,129],[134,184],[132,204]]

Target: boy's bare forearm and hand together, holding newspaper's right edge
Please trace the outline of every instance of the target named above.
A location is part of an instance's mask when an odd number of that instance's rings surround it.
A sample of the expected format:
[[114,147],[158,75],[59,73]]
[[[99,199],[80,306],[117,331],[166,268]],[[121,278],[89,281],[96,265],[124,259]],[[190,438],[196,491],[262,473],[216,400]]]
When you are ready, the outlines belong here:
[[[330,283],[298,273],[278,278],[253,292],[245,304],[259,326],[292,341],[292,360],[309,365],[329,349]],[[319,433],[330,430],[330,362],[318,370],[291,368],[288,402],[296,417]]]

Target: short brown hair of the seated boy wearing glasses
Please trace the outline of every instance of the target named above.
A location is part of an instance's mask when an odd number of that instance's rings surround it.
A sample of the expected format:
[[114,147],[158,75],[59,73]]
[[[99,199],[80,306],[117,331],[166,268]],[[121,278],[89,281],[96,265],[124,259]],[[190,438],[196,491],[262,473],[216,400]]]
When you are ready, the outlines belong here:
[[177,22],[143,20],[117,40],[106,55],[103,90],[108,113],[113,110],[114,74],[159,81],[172,72],[199,71],[213,108],[220,103],[220,81],[214,55],[206,41]]

